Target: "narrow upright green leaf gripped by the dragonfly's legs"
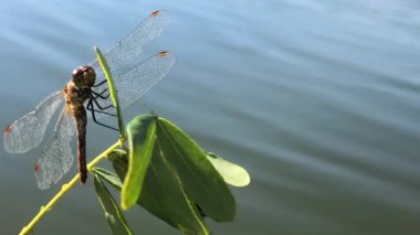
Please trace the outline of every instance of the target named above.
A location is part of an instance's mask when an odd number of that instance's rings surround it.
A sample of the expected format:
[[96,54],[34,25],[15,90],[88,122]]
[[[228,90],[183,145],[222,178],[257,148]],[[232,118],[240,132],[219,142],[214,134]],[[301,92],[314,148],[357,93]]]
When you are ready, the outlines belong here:
[[109,66],[108,66],[104,55],[102,54],[101,50],[96,46],[94,46],[93,50],[96,53],[97,61],[99,62],[101,68],[104,72],[106,82],[108,84],[111,99],[113,100],[113,105],[117,110],[118,129],[119,129],[119,133],[120,133],[120,139],[124,140],[125,139],[124,119],[123,119],[123,114],[122,114],[122,110],[119,107],[117,90],[115,88],[113,76],[112,76],[111,71],[109,71]]

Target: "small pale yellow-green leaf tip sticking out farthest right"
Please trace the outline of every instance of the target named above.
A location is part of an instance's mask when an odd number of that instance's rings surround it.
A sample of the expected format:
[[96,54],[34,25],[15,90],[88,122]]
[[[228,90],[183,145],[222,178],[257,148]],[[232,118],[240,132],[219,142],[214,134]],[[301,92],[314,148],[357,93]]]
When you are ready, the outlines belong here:
[[222,175],[224,182],[233,186],[246,186],[251,182],[250,174],[241,165],[232,163],[219,156],[207,152],[207,159],[213,164],[216,170]]

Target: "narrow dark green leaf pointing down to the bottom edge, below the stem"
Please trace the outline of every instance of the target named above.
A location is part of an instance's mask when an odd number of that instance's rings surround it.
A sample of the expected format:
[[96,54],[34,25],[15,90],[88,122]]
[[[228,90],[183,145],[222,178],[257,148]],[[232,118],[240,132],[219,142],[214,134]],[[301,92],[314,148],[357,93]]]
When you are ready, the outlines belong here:
[[96,194],[99,199],[101,205],[104,209],[106,221],[113,234],[133,234],[127,222],[124,218],[122,211],[115,203],[115,200],[99,179],[94,177],[94,184]]

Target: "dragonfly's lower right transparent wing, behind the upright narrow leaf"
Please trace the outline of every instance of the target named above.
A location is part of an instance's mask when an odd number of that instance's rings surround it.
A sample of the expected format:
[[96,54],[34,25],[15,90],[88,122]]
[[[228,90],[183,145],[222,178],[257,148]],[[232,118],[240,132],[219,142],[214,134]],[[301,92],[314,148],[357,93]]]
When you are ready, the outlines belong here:
[[[146,94],[147,90],[169,73],[175,62],[176,58],[172,54],[169,52],[160,52],[145,61],[134,64],[132,68],[126,72],[113,74],[120,107],[127,107]],[[101,94],[106,88],[107,84],[104,84],[99,87],[94,87],[93,90]],[[113,104],[109,97],[106,99],[98,97],[96,102],[101,107],[111,107]],[[111,107],[104,111],[115,114],[115,108]],[[95,113],[96,118],[105,116],[108,115]]]

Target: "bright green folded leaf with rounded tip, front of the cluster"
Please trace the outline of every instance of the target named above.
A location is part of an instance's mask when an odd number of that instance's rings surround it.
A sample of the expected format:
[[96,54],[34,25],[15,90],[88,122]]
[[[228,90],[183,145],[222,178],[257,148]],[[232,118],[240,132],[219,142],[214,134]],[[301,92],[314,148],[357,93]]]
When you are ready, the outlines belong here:
[[138,116],[127,126],[130,151],[128,172],[122,189],[122,207],[124,210],[134,205],[140,195],[155,145],[155,116]]

